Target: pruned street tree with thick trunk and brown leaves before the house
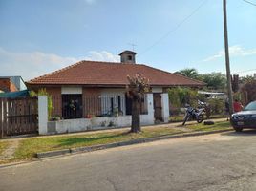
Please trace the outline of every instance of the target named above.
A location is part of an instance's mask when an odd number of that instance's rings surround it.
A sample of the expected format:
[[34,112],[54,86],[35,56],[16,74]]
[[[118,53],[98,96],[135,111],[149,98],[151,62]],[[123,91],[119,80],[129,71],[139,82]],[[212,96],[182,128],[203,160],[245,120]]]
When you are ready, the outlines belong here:
[[149,80],[141,74],[134,77],[127,76],[129,84],[127,85],[127,95],[132,99],[132,126],[131,132],[138,133],[140,128],[140,104],[145,93],[149,91]]

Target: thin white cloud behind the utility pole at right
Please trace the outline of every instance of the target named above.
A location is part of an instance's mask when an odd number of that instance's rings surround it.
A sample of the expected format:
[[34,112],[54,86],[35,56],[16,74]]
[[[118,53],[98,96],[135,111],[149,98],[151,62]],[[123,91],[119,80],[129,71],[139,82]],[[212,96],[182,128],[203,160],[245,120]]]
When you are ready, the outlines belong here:
[[[247,50],[240,45],[234,45],[229,47],[229,55],[231,56],[247,56],[247,55],[255,55],[256,49],[250,49]],[[203,59],[203,62],[213,61],[217,58],[224,57],[224,50],[220,51],[219,53],[216,53],[215,55],[209,56],[205,59]]]

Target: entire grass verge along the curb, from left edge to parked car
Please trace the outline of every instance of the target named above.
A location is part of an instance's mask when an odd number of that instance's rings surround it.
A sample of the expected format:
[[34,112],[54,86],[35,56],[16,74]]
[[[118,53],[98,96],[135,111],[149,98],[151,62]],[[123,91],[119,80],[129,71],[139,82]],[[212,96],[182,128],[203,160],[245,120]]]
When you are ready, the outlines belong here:
[[[182,126],[183,127],[183,126]],[[184,126],[190,131],[215,131],[230,128],[228,121],[216,122],[214,125],[187,124]],[[19,142],[19,147],[14,153],[13,160],[32,159],[36,153],[53,151],[67,148],[77,148],[82,146],[92,146],[99,144],[114,143],[138,138],[153,138],[184,133],[184,129],[171,128],[170,125],[143,127],[139,134],[129,133],[127,129],[120,129],[112,132],[90,132],[86,134],[57,135],[47,137],[24,138]],[[0,154],[7,147],[6,141],[0,141]],[[8,162],[8,161],[7,161]],[[0,162],[1,163],[1,162]]]

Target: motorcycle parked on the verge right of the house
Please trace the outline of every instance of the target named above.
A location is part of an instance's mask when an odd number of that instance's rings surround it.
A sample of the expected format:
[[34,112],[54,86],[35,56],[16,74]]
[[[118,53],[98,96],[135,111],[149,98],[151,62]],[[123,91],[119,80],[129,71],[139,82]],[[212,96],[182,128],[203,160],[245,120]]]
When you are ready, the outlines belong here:
[[186,112],[185,112],[185,117],[183,119],[182,125],[185,125],[186,121],[189,118],[196,119],[198,123],[203,122],[203,108],[195,109],[191,107],[190,105],[186,105]]

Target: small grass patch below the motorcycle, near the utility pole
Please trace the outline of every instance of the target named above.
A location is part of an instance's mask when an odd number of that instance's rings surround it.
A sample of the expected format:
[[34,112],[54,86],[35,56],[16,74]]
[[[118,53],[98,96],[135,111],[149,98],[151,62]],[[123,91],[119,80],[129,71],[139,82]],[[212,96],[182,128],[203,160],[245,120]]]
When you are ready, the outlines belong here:
[[193,131],[214,131],[214,130],[224,130],[231,128],[229,121],[215,122],[213,125],[204,125],[203,123],[186,125],[186,128]]

